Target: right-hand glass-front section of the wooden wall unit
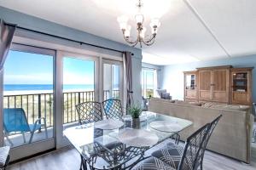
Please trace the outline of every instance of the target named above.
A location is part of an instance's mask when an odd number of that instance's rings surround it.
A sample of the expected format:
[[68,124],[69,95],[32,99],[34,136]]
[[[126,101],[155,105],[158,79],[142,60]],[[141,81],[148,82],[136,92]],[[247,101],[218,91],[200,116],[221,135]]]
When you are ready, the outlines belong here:
[[252,70],[251,67],[231,69],[231,103],[252,104]]

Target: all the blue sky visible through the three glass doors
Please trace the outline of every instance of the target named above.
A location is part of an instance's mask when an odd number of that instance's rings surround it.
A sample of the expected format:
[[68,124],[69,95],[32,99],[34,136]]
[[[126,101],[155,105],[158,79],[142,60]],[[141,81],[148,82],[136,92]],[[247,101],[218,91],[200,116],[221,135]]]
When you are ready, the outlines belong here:
[[[54,58],[50,55],[9,51],[4,64],[4,84],[53,84]],[[67,56],[63,59],[64,84],[94,84],[95,62]],[[113,66],[113,83],[119,67]]]

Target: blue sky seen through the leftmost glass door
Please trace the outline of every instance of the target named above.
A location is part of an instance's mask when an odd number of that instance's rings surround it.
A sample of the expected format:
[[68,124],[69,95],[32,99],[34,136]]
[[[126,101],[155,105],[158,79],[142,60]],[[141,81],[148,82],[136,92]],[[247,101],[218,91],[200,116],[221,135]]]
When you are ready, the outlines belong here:
[[52,84],[53,57],[10,50],[3,78],[5,84]]

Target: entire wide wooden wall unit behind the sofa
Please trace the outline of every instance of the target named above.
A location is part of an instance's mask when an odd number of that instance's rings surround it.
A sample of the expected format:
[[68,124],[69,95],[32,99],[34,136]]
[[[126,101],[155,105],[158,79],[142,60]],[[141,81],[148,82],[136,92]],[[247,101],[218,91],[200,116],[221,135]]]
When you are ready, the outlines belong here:
[[185,71],[184,99],[251,105],[252,70],[225,65]]

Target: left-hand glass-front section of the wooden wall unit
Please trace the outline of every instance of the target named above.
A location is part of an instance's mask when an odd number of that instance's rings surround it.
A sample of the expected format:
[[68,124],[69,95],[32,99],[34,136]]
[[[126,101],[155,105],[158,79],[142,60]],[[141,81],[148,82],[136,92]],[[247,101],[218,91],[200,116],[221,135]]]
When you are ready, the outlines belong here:
[[197,99],[197,71],[184,71],[184,99]]

